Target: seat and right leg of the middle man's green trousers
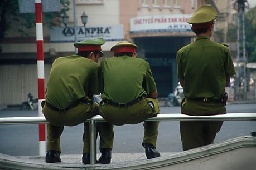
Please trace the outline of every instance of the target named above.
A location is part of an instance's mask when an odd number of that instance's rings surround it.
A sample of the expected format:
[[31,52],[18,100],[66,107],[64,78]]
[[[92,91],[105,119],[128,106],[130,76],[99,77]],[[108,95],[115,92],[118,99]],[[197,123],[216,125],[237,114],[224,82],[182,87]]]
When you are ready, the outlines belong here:
[[[154,109],[147,103],[152,102]],[[115,107],[101,102],[99,106],[100,115],[109,123],[121,126],[123,124],[138,124],[145,119],[154,117],[160,113],[157,99],[144,98],[138,103],[128,107]],[[156,147],[158,136],[158,121],[144,122],[143,143],[150,143]]]

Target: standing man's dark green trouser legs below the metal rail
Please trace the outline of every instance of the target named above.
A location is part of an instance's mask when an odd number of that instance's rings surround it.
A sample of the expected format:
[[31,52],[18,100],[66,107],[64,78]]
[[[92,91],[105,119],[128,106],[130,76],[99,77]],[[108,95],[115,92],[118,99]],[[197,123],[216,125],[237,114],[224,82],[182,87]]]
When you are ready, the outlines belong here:
[[180,121],[183,151],[212,144],[223,121]]

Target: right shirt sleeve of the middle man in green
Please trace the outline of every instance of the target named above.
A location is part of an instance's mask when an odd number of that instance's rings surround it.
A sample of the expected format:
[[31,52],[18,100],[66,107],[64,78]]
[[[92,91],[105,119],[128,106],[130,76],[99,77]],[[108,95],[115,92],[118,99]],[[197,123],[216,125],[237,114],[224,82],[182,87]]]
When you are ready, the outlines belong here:
[[151,92],[154,92],[157,90],[156,82],[154,81],[149,63],[147,62],[146,62],[146,75],[144,77],[142,87],[144,88],[147,94],[150,94]]

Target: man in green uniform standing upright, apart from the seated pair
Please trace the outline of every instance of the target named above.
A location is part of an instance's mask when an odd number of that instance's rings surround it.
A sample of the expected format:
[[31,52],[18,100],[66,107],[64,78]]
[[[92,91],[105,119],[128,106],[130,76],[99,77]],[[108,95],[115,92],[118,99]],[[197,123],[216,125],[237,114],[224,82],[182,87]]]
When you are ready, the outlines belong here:
[[[188,23],[196,41],[177,52],[177,76],[185,99],[181,113],[191,116],[226,114],[225,86],[235,74],[229,48],[210,40],[218,13],[202,6]],[[214,142],[223,121],[180,121],[183,151]]]

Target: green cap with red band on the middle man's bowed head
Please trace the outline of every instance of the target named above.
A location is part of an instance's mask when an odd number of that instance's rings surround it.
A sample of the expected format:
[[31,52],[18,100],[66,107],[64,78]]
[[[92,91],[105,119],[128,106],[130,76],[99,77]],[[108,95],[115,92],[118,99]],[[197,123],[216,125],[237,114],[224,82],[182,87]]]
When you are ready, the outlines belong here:
[[113,46],[110,49],[110,51],[113,51],[114,54],[117,54],[120,52],[136,53],[136,49],[138,49],[138,46],[136,44],[132,44],[129,42],[119,42],[115,46]]

